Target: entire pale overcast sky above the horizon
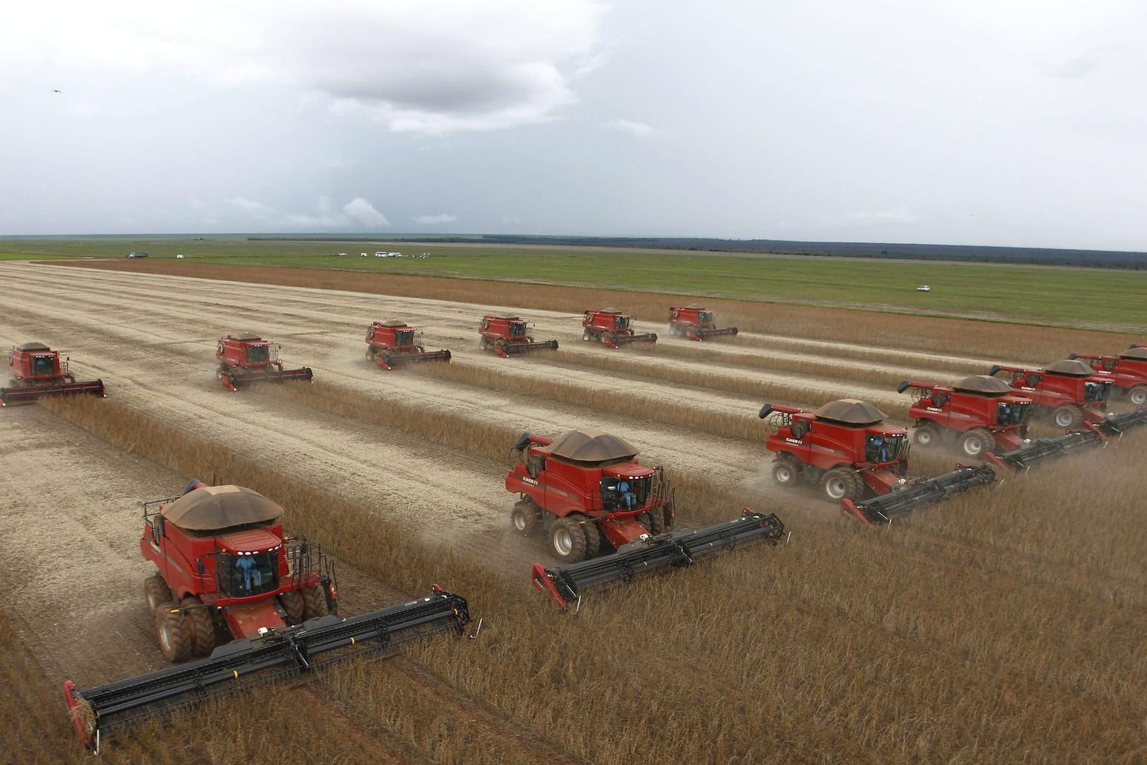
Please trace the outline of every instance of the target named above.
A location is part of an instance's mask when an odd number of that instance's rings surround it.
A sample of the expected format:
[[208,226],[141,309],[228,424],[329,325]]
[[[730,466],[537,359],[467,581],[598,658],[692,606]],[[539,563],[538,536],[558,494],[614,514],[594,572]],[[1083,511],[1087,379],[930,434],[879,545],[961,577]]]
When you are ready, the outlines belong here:
[[1147,250],[1145,29],[1103,0],[9,3],[0,234]]

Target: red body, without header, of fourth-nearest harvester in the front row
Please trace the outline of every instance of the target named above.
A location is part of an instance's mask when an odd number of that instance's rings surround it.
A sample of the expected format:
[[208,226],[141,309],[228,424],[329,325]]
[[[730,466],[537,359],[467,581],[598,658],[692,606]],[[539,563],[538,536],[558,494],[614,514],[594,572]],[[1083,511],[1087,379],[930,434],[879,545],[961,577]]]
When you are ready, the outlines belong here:
[[951,434],[968,456],[1011,452],[1028,436],[1031,400],[1009,396],[1012,388],[988,375],[965,377],[952,387],[905,380],[896,392],[912,389],[908,416],[915,422],[913,439],[921,446]]

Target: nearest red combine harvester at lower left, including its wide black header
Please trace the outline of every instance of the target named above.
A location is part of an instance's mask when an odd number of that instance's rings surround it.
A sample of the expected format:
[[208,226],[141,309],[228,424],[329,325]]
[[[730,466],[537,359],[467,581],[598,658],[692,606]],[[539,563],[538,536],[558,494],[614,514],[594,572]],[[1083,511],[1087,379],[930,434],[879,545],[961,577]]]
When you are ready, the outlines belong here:
[[[78,690],[64,682],[72,726],[93,750],[108,733],[175,709],[288,678],[469,623],[466,600],[428,598],[334,616],[334,568],[305,539],[283,536],[283,509],[240,486],[193,479],[180,498],[143,506],[140,549],[158,572],[143,583],[164,656],[198,661]],[[216,635],[233,642],[216,647]]]

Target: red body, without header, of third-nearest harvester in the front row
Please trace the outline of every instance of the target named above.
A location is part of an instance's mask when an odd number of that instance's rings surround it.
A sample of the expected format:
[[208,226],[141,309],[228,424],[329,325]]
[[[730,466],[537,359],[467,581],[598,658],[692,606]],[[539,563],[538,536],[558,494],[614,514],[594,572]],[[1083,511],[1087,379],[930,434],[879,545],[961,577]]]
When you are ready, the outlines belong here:
[[816,412],[765,404],[758,416],[768,417],[765,445],[777,453],[773,478],[781,485],[819,483],[838,502],[905,483],[908,431],[883,424],[888,415],[872,404],[842,398]]

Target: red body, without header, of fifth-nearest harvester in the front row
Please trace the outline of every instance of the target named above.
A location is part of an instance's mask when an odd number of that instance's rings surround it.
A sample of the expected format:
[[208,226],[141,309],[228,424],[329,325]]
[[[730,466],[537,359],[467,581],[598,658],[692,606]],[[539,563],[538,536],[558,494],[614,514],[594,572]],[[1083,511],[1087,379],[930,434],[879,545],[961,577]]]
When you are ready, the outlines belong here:
[[1111,378],[1101,377],[1083,361],[1064,359],[1043,369],[994,365],[988,374],[1012,373],[1012,390],[1031,399],[1033,414],[1045,414],[1060,428],[1102,422]]

